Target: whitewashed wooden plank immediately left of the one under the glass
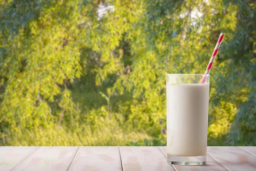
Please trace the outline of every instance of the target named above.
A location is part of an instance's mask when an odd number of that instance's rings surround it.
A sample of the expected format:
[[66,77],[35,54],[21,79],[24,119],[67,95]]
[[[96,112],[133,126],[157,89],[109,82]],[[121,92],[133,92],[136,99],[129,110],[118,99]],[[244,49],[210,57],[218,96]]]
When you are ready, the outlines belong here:
[[175,171],[158,147],[120,147],[123,171]]

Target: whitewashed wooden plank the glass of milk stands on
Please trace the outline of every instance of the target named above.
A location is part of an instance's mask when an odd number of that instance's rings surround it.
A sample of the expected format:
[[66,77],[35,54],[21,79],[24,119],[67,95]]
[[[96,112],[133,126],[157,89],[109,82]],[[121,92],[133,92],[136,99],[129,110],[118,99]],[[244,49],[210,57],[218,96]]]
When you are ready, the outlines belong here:
[[[160,147],[167,158],[167,147]],[[200,166],[173,165],[177,171],[228,171],[215,159],[207,154],[207,164]]]

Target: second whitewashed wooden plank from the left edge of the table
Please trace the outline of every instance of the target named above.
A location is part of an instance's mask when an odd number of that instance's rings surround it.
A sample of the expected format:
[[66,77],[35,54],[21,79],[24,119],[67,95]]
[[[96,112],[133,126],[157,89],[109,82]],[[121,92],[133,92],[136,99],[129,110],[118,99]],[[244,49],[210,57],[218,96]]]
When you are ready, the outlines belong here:
[[40,147],[14,171],[67,171],[79,147]]

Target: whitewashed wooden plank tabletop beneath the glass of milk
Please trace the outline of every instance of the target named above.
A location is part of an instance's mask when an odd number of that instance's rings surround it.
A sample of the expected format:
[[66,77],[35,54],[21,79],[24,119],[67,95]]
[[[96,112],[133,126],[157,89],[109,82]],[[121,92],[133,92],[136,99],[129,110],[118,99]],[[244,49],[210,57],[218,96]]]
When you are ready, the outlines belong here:
[[166,147],[0,147],[0,171],[256,171],[256,147],[208,147],[207,165],[169,165]]

